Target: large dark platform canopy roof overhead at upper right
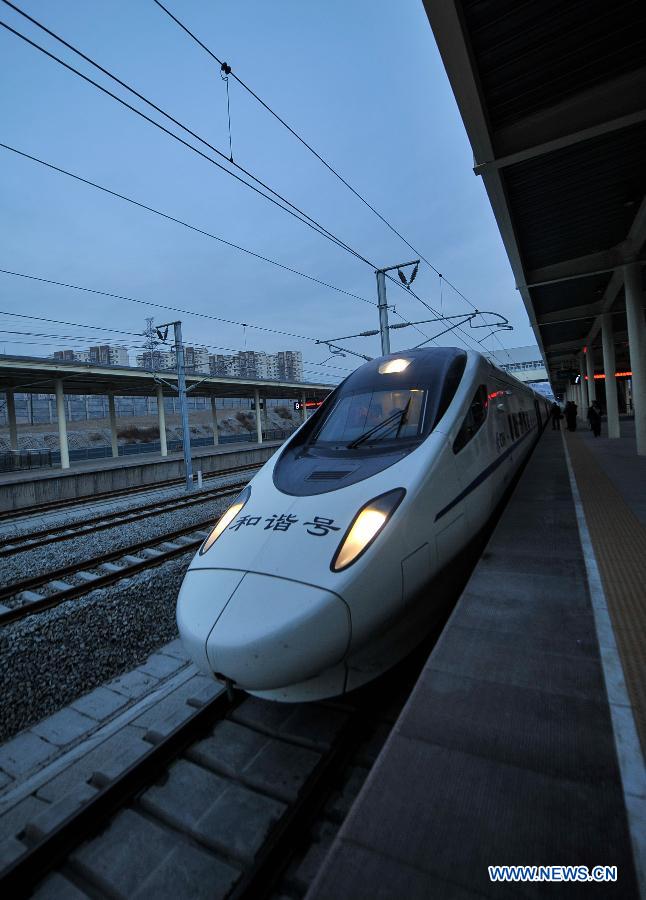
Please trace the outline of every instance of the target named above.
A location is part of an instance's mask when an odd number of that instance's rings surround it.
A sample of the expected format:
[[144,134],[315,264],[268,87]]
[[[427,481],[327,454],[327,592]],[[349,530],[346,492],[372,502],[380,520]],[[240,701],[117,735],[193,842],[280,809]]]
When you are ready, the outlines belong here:
[[553,386],[600,346],[606,312],[627,366],[622,268],[646,243],[645,0],[424,4]]

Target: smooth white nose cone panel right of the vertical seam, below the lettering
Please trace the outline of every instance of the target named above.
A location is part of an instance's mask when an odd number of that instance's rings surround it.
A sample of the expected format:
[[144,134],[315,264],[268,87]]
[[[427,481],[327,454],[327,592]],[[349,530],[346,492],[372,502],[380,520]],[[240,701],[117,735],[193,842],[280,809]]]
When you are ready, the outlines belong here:
[[247,573],[208,637],[214,672],[248,690],[298,684],[339,663],[350,611],[322,588]]

